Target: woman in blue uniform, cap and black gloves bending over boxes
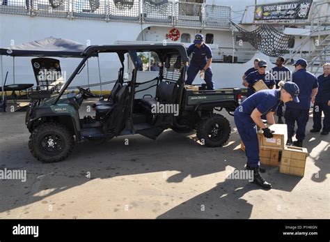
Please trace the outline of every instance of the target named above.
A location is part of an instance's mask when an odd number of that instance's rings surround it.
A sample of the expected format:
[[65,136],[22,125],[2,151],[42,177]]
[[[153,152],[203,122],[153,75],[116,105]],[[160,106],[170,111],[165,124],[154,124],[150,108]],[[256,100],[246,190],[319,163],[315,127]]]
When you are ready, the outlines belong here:
[[[280,89],[261,90],[246,98],[241,105],[235,109],[235,124],[245,145],[247,157],[246,169],[253,171],[253,182],[262,188],[270,189],[272,185],[265,181],[260,175],[259,144],[257,127],[263,130],[267,138],[273,137],[272,131],[262,123],[261,116],[267,116],[269,124],[275,123],[274,111],[279,103],[290,101],[299,102],[297,98],[299,88],[293,82],[280,82]],[[292,102],[291,102],[292,103]]]

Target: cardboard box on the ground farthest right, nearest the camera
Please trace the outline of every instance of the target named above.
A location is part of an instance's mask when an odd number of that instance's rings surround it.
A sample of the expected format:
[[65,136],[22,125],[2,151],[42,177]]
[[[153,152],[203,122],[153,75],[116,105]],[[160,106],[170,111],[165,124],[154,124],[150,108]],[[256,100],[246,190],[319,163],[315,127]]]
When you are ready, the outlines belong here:
[[307,156],[306,148],[288,146],[282,151],[280,172],[304,176]]

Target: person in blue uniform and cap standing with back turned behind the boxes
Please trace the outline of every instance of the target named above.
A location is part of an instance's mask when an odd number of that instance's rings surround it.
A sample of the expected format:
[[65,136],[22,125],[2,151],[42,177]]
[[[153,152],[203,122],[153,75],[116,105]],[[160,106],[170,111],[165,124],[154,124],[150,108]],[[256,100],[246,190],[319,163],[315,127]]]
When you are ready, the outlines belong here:
[[[285,109],[285,123],[288,126],[288,145],[303,146],[305,139],[306,125],[309,118],[309,109],[311,101],[314,102],[317,93],[317,78],[306,70],[307,61],[299,59],[294,64],[295,73],[292,74],[292,82],[299,86],[299,103],[288,103]],[[297,141],[292,142],[294,135],[294,126],[297,122],[296,138]]]

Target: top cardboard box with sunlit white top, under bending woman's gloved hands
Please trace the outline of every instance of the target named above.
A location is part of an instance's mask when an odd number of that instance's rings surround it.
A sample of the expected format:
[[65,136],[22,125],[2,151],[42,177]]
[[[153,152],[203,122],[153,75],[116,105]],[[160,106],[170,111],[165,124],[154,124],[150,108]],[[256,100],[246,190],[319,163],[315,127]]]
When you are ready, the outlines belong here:
[[273,124],[269,126],[269,129],[275,131],[273,137],[270,139],[267,139],[262,134],[262,130],[259,130],[259,148],[285,149],[285,144],[288,139],[288,128],[286,124]]

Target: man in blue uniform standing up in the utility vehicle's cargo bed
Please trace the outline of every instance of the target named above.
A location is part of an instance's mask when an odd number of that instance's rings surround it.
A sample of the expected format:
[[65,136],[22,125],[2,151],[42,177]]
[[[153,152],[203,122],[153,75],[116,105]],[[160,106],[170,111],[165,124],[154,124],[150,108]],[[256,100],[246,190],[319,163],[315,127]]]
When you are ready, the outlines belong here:
[[204,79],[207,89],[214,90],[214,82],[212,82],[212,51],[211,48],[204,43],[204,36],[197,33],[194,44],[191,44],[187,49],[187,54],[192,54],[189,67],[187,69],[186,84],[191,85],[198,72]]

